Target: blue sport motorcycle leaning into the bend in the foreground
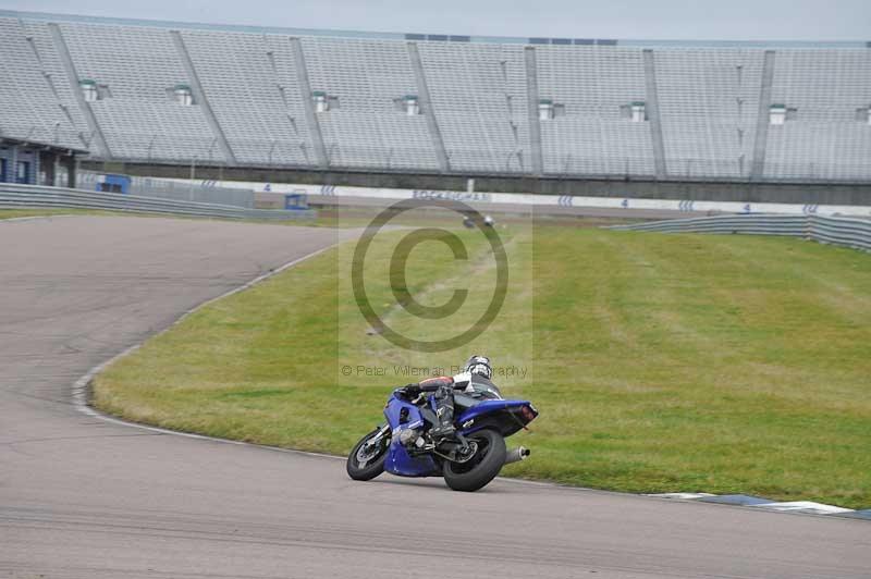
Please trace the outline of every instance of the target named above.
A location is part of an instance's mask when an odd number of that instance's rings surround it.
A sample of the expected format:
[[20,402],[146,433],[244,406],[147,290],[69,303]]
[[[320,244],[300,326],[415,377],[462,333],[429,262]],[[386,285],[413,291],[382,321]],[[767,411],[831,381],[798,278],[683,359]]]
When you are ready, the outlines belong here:
[[384,470],[400,477],[444,477],[455,491],[477,491],[493,480],[502,467],[523,460],[523,446],[506,451],[505,439],[535,420],[538,410],[528,401],[506,401],[490,381],[461,374],[468,385],[454,394],[456,433],[434,441],[436,401],[420,393],[412,399],[396,389],[384,407],[387,423],[366,434],[347,457],[354,480],[371,480]]

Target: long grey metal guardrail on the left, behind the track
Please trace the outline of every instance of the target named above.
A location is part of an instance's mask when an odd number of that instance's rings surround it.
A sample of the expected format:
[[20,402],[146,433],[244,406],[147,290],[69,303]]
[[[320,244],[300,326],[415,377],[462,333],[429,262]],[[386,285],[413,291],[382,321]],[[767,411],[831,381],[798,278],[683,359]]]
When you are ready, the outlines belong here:
[[285,211],[279,209],[245,209],[217,204],[8,183],[0,183],[0,207],[98,209],[138,213],[168,213],[174,215],[223,219],[267,220],[312,219],[316,214],[315,211],[311,210]]

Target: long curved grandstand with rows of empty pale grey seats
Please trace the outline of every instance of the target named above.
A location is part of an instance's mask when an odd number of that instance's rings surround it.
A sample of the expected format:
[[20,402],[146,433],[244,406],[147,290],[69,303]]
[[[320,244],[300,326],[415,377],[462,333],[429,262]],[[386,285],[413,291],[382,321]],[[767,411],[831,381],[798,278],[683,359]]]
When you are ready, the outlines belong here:
[[368,34],[0,11],[2,136],[127,163],[871,182],[871,42]]

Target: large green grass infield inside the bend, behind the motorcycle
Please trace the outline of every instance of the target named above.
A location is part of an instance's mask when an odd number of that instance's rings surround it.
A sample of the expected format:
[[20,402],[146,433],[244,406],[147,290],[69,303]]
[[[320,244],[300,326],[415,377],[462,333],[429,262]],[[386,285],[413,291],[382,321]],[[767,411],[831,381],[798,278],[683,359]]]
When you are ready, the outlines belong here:
[[[470,270],[434,244],[410,261],[413,295],[441,304],[473,286],[467,305],[487,301],[487,248],[459,234]],[[150,340],[97,378],[94,402],[168,428],[343,454],[380,420],[391,387],[414,380],[393,365],[483,352],[528,369],[500,383],[541,410],[515,442],[532,457],[507,475],[871,507],[871,256],[792,238],[501,234],[506,305],[454,352],[410,355],[366,335],[344,246]],[[373,247],[371,301],[410,334],[445,331],[391,305],[390,250]],[[387,375],[342,374],[357,365]]]

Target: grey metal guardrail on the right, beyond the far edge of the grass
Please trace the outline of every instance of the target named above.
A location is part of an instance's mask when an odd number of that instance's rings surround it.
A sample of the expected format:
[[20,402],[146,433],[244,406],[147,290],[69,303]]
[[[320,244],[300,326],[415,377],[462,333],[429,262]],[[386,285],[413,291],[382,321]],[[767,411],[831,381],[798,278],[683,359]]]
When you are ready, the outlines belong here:
[[812,214],[737,214],[614,225],[609,229],[661,233],[792,235],[820,243],[871,251],[871,220],[863,219],[830,218]]

